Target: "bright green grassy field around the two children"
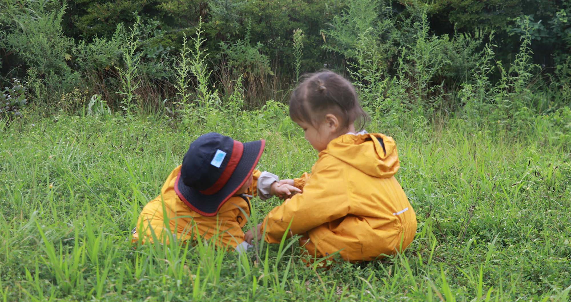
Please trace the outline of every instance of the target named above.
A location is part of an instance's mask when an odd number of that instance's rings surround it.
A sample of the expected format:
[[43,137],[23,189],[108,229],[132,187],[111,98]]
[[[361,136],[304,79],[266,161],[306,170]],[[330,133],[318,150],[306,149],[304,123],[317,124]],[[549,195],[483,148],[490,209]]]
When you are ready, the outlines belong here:
[[[568,301],[569,136],[546,119],[520,136],[422,125],[376,118],[367,128],[397,142],[415,241],[381,262],[327,271],[305,266],[295,239],[246,256],[130,243],[140,209],[200,134],[265,138],[259,169],[284,178],[310,170],[316,152],[287,108],[215,111],[187,126],[63,114],[2,125],[0,301]],[[254,199],[250,225],[279,202]]]

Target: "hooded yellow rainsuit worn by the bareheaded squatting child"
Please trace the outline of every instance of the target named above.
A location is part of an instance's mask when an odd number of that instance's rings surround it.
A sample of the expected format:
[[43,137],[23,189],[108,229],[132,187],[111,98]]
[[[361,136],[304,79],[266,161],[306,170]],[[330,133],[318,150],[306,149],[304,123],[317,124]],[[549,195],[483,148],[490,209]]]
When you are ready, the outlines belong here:
[[[309,254],[370,261],[403,251],[416,232],[416,215],[399,182],[395,141],[384,134],[344,134],[319,153],[311,174],[294,179],[303,193],[287,199],[262,223],[266,241],[304,235]],[[308,237],[308,238],[307,238]],[[308,240],[309,239],[309,240]]]

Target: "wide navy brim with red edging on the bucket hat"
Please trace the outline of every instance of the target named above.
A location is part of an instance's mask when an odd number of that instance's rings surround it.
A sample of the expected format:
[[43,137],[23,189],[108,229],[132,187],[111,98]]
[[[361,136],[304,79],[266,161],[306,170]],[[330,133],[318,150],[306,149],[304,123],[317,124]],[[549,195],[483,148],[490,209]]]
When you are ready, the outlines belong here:
[[252,175],[252,171],[254,171],[256,164],[258,164],[260,160],[260,156],[262,156],[262,152],[266,146],[266,140],[244,142],[242,144],[244,145],[242,158],[240,158],[234,173],[232,173],[232,176],[230,176],[222,189],[211,195],[202,194],[193,187],[185,185],[182,179],[180,179],[179,172],[175,181],[175,191],[178,197],[186,203],[188,207],[200,215],[216,215],[220,207],[222,207],[222,205],[246,183],[248,177]]

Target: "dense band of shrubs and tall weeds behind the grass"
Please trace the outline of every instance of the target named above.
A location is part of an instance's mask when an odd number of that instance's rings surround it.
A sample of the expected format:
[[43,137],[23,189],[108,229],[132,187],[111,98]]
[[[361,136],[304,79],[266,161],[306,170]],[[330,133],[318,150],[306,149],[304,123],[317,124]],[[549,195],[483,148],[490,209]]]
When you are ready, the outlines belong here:
[[521,129],[571,98],[568,1],[0,5],[2,79],[26,79],[33,103],[70,112],[93,95],[129,114],[259,107],[323,67],[389,120],[460,114]]

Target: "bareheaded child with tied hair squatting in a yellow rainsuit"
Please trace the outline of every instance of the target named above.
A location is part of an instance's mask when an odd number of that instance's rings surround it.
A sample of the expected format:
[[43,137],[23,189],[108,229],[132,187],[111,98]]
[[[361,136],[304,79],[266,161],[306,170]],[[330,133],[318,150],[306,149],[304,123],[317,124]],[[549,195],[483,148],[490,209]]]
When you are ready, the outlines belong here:
[[394,177],[399,170],[395,141],[363,131],[369,117],[353,85],[334,72],[317,72],[293,91],[289,115],[319,158],[311,174],[289,181],[302,193],[271,210],[246,240],[265,234],[267,242],[279,243],[284,232],[300,234],[300,245],[310,255],[339,251],[353,263],[380,259],[411,244],[416,215]]

